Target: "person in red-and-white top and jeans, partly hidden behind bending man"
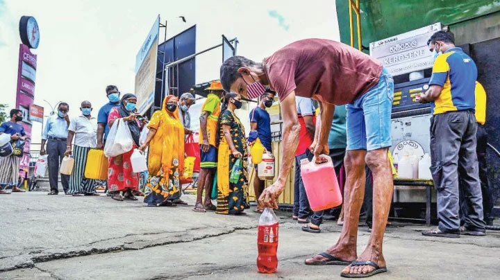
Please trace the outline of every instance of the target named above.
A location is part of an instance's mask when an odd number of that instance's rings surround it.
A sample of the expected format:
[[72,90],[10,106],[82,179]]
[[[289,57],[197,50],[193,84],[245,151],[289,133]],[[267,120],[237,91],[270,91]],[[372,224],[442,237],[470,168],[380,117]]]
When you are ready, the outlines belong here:
[[313,100],[297,96],[295,98],[297,106],[297,116],[301,130],[299,133],[299,146],[295,152],[295,184],[294,184],[294,209],[293,218],[297,218],[299,224],[306,224],[308,216],[312,213],[309,208],[309,201],[304,189],[300,165],[302,159],[313,159],[313,153],[310,152],[309,146],[313,143],[316,125],[315,107]]

